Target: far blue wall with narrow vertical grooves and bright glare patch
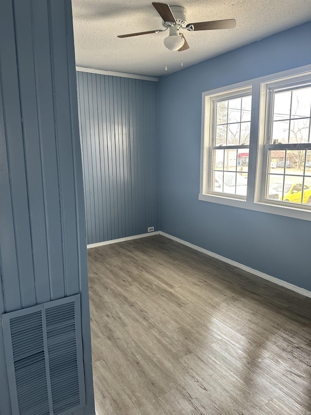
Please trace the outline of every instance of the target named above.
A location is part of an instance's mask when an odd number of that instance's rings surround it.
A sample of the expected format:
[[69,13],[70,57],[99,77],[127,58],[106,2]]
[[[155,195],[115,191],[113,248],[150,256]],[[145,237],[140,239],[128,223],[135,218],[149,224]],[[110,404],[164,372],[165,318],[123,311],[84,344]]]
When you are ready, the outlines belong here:
[[158,228],[157,83],[77,72],[87,243]]

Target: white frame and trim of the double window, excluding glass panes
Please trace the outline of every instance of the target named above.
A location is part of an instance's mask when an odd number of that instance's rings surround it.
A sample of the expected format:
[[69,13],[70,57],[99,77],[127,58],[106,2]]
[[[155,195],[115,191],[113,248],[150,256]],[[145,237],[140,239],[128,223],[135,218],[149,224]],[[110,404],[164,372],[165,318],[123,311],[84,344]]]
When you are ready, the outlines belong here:
[[[298,79],[299,78],[299,79]],[[225,86],[215,90],[209,90],[202,94],[202,127],[201,127],[201,167],[200,167],[200,194],[199,200],[212,203],[220,203],[228,206],[240,207],[243,209],[256,210],[275,215],[296,217],[299,219],[311,220],[309,207],[300,208],[294,203],[276,203],[276,201],[262,197],[265,188],[264,145],[267,140],[267,93],[270,85],[277,83],[284,85],[284,82],[297,84],[302,79],[311,78],[311,65],[294,68],[289,71],[278,72],[268,76],[252,79],[238,84]],[[208,190],[208,167],[209,167],[209,144],[211,140],[211,104],[217,98],[227,98],[230,93],[237,91],[252,90],[252,113],[249,144],[248,163],[248,186],[245,200],[235,195],[221,195],[211,193]],[[279,145],[279,144],[278,144]],[[210,181],[210,179],[209,179]]]

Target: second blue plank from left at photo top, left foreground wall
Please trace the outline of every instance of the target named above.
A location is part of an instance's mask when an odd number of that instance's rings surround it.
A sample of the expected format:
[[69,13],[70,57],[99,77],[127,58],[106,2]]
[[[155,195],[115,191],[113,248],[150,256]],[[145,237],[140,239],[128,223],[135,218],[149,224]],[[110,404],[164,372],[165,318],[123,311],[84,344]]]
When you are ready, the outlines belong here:
[[[28,188],[28,204],[33,245],[34,277],[38,303],[51,300],[49,260],[42,181],[41,143],[38,129],[37,88],[32,33],[32,4],[20,1],[15,7],[19,94],[23,117],[23,141]],[[29,54],[31,58],[29,58]],[[63,293],[64,294],[64,293]],[[64,295],[63,295],[64,296]]]

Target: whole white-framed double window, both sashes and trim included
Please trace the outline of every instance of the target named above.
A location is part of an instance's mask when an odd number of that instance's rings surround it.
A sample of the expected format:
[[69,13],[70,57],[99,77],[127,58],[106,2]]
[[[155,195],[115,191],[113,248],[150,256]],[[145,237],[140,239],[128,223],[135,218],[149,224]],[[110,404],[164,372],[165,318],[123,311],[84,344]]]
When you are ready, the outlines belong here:
[[203,93],[200,200],[311,220],[311,65]]

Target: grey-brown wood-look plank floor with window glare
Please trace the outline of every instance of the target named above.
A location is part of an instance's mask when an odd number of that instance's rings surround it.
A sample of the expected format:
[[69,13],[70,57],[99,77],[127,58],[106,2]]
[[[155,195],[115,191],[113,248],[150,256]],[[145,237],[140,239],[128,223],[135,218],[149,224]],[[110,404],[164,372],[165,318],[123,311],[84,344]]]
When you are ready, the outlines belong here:
[[311,299],[163,236],[88,250],[98,415],[311,414]]

